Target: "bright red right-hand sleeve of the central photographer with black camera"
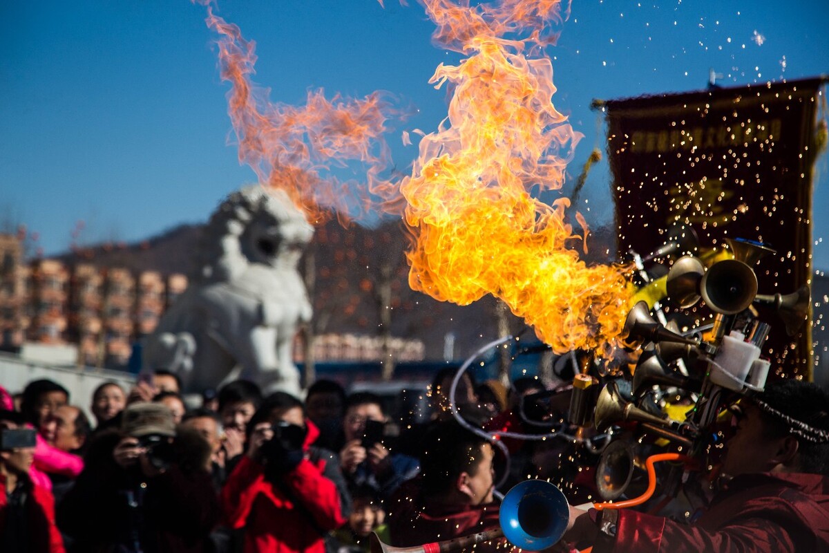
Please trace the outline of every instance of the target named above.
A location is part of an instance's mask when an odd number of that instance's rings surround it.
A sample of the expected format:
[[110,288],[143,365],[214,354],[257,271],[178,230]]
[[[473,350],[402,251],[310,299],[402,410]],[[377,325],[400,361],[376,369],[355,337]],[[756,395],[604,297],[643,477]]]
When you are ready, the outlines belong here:
[[307,458],[285,475],[284,483],[322,530],[334,530],[346,523],[337,485]]

